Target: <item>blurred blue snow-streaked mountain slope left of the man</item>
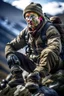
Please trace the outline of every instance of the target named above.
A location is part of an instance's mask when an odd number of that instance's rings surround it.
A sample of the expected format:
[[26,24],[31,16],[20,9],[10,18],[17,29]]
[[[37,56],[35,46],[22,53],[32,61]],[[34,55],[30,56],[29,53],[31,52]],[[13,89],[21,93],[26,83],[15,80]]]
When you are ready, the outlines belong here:
[[22,12],[22,10],[0,1],[0,80],[10,72],[5,57],[6,43],[15,38],[26,26]]

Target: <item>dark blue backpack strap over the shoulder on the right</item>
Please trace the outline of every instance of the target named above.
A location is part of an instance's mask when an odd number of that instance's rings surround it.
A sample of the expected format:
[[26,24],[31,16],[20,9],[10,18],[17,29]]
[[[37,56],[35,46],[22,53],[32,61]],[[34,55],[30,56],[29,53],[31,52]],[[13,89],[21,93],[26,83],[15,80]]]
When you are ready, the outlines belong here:
[[46,24],[44,25],[44,27],[42,28],[41,30],[41,39],[42,39],[42,42],[43,42],[43,48],[45,48],[47,46],[46,42],[47,42],[47,36],[46,36],[46,31],[47,29],[53,25],[50,21],[46,22]]

